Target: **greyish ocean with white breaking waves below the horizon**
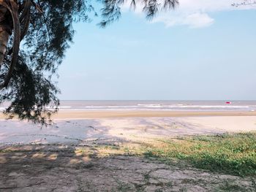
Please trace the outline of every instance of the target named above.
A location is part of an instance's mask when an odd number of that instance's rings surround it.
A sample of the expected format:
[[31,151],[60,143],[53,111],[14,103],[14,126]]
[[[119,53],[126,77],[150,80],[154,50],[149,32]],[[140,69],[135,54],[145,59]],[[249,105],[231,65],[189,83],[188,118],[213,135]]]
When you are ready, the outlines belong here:
[[61,101],[60,110],[255,111],[256,101]]

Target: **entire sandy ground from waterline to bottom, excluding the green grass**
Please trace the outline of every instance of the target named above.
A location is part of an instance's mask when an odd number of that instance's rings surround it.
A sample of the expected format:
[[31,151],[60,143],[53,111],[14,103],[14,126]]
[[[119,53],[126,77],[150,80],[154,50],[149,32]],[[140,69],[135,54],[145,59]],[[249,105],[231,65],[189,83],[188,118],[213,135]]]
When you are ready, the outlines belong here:
[[[0,191],[253,191],[255,177],[129,155],[159,139],[256,131],[255,112],[61,110],[53,125],[0,120]],[[122,150],[120,150],[122,149]],[[137,152],[136,152],[137,153]]]

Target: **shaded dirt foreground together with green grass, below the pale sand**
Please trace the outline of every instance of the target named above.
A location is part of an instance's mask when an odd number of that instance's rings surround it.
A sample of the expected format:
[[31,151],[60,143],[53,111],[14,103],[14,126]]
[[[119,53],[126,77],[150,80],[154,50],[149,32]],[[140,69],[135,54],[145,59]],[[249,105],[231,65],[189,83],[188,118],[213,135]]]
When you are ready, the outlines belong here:
[[254,191],[255,143],[256,133],[251,132],[119,145],[2,146],[0,187],[23,191]]

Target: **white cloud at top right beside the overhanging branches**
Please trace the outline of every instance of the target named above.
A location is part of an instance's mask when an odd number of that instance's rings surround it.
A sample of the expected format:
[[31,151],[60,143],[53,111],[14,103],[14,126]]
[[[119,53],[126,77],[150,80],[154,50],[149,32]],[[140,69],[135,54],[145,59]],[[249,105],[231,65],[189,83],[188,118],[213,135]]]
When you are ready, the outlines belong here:
[[[166,27],[189,26],[191,28],[202,28],[211,26],[214,18],[209,16],[211,12],[222,12],[239,9],[256,9],[256,6],[248,5],[233,7],[231,4],[244,0],[179,0],[180,4],[176,10],[161,12],[151,23],[165,23]],[[247,0],[254,1],[254,0]],[[129,7],[129,6],[124,6]],[[135,12],[142,13],[142,6],[137,5]]]

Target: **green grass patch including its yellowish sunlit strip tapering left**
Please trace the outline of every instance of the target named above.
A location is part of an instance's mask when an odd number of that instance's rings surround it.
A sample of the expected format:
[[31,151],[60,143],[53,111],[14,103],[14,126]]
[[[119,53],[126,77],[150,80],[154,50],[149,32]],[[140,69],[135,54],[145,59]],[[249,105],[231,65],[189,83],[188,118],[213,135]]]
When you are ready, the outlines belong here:
[[[256,132],[153,139],[129,145],[95,145],[98,155],[138,155],[165,164],[256,176]],[[83,149],[78,149],[83,153]],[[87,151],[88,152],[88,151]],[[92,154],[92,153],[91,153]]]

